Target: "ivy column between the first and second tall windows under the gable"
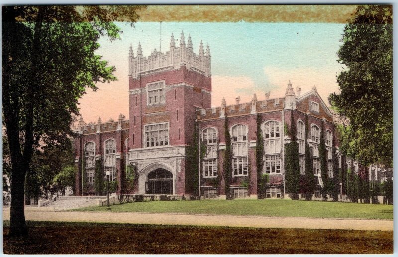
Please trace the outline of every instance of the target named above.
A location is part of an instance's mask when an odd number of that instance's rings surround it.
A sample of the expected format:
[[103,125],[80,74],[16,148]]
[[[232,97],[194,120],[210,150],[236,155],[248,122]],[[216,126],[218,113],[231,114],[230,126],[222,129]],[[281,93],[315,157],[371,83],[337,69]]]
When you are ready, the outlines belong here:
[[308,144],[309,126],[308,115],[305,116],[305,178],[302,191],[305,193],[305,200],[312,199],[312,194],[315,190],[315,176],[312,160],[312,151]]

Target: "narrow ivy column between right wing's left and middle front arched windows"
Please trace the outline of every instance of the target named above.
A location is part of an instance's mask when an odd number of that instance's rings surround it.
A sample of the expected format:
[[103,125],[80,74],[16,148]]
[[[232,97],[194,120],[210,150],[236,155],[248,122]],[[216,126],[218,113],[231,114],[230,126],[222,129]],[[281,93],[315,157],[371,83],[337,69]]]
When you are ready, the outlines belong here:
[[224,136],[225,136],[225,154],[224,154],[224,167],[223,177],[225,181],[225,194],[227,200],[232,200],[233,196],[230,192],[230,185],[232,179],[232,145],[231,135],[229,133],[228,117],[225,113],[225,124],[224,124]]

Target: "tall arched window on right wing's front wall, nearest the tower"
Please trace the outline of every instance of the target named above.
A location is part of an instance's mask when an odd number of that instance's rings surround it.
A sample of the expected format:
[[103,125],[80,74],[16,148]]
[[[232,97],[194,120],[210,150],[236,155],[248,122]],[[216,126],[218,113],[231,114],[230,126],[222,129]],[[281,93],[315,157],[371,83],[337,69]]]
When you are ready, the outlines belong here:
[[202,131],[201,138],[207,147],[207,152],[203,159],[203,177],[216,177],[217,130],[215,128],[206,128]]

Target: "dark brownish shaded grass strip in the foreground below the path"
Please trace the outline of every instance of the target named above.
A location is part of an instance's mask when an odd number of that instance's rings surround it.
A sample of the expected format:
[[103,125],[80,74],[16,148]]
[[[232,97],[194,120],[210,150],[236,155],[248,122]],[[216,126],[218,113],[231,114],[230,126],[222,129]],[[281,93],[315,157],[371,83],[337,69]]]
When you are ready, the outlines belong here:
[[392,231],[27,222],[5,254],[391,254]]

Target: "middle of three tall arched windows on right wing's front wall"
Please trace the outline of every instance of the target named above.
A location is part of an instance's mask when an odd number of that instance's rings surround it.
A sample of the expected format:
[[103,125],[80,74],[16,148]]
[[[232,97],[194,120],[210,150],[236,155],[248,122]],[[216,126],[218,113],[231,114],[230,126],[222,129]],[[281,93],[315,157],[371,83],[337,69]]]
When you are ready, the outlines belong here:
[[232,167],[234,176],[247,175],[247,128],[245,125],[232,127]]

